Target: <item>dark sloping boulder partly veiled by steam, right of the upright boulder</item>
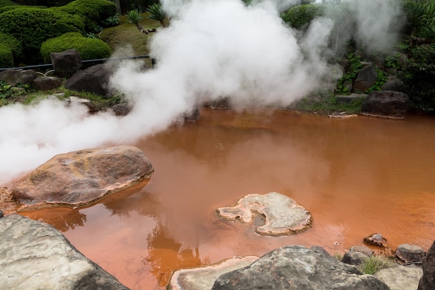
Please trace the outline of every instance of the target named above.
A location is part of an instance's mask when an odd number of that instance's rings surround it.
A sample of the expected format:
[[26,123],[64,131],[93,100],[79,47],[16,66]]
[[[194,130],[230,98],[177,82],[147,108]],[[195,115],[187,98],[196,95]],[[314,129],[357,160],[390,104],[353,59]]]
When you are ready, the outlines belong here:
[[92,65],[85,70],[79,70],[65,81],[65,88],[79,92],[91,92],[102,97],[111,97],[109,81],[113,70],[106,64]]

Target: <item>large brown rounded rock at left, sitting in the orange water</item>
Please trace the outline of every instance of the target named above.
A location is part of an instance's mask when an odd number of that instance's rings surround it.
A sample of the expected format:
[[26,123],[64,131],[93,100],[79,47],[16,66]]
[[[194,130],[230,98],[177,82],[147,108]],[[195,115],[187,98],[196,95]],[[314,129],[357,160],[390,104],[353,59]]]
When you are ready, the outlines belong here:
[[59,154],[12,186],[23,207],[81,207],[149,177],[153,168],[137,147],[117,146]]

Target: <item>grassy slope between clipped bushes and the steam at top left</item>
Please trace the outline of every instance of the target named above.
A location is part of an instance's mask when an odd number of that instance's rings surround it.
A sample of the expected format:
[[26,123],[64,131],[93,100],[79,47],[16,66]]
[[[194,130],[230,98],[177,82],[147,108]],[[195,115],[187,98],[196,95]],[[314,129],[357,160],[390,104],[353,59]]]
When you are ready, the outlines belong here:
[[[147,13],[141,15],[144,18],[140,21],[140,25],[144,29],[158,29],[161,27],[158,21],[148,19]],[[126,44],[131,45],[133,56],[140,56],[149,54],[148,42],[152,35],[153,33],[140,33],[135,24],[129,23],[125,16],[120,16],[120,25],[104,29],[99,38],[106,42],[113,52],[118,51],[118,54],[125,54],[117,56],[132,56],[128,51],[125,51],[125,53],[120,51],[120,49],[126,47]]]

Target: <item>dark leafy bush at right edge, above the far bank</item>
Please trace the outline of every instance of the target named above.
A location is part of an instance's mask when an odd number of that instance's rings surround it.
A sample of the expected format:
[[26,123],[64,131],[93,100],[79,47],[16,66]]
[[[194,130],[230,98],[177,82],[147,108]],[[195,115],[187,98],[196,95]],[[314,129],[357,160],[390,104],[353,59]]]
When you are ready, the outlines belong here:
[[413,108],[435,112],[435,44],[411,49],[404,67],[404,83]]

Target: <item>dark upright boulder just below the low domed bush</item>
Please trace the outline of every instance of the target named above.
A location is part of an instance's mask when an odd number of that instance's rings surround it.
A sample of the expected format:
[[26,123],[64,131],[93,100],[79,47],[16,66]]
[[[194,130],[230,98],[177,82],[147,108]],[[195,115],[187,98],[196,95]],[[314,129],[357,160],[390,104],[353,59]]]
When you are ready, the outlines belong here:
[[78,72],[81,67],[81,56],[75,49],[51,53],[50,60],[56,74],[66,79]]

